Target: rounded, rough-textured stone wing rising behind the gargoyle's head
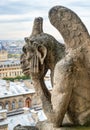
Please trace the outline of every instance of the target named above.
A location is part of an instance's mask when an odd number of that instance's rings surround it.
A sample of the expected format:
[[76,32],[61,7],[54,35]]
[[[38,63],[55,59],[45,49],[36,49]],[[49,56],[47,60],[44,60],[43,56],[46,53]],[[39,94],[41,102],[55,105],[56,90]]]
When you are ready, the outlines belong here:
[[89,33],[81,19],[70,9],[55,6],[49,11],[51,24],[61,33],[66,48],[77,48],[86,43]]

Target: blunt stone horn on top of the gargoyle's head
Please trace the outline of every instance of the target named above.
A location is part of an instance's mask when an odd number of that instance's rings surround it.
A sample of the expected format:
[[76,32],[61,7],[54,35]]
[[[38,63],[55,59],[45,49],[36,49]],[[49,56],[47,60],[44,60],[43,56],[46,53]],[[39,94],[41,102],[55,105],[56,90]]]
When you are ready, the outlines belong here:
[[31,33],[30,37],[40,34],[42,32],[43,32],[43,18],[37,17],[34,20],[33,29],[32,29],[32,33]]

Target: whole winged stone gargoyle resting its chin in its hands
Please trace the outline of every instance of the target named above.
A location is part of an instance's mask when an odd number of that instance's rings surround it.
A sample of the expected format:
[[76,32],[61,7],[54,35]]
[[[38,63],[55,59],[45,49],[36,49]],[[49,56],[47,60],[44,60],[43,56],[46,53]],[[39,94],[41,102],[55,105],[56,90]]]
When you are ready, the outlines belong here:
[[[65,114],[74,125],[90,124],[90,36],[81,19],[70,9],[55,6],[51,24],[65,44],[43,32],[41,17],[25,38],[21,56],[23,73],[32,77],[43,110],[53,127],[61,127]],[[52,93],[44,77],[51,70]]]

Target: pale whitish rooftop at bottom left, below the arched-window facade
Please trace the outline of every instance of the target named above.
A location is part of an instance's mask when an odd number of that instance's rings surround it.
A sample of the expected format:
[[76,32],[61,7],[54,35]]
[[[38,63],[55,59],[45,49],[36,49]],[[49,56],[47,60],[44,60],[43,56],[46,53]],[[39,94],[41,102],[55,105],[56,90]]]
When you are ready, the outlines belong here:
[[27,113],[7,117],[6,120],[0,121],[0,126],[8,124],[8,129],[13,130],[18,124],[21,124],[22,126],[35,126],[38,120],[44,121],[46,119],[47,118],[42,110],[33,110],[32,112],[29,110]]

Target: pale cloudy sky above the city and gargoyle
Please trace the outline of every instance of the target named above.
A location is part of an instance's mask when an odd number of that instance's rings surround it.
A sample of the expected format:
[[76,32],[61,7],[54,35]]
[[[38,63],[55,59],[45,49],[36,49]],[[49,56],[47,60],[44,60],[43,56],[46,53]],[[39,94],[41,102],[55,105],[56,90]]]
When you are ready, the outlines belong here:
[[55,5],[72,9],[90,32],[90,0],[0,0],[0,40],[29,36],[33,20],[39,16],[44,19],[44,32],[62,39],[48,19],[49,10]]

